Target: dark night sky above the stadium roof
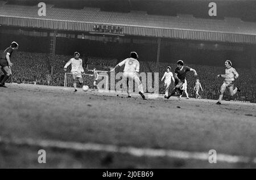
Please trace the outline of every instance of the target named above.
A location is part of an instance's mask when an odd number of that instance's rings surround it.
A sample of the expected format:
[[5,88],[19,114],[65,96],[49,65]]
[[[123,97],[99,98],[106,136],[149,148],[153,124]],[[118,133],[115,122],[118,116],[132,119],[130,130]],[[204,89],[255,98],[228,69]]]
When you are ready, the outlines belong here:
[[[41,0],[3,0],[9,5],[36,6]],[[82,9],[100,8],[102,11],[130,12],[146,11],[152,15],[192,14],[197,18],[224,19],[241,18],[246,22],[256,22],[255,0],[214,0],[217,16],[209,17],[209,3],[212,0],[44,0],[60,8]]]

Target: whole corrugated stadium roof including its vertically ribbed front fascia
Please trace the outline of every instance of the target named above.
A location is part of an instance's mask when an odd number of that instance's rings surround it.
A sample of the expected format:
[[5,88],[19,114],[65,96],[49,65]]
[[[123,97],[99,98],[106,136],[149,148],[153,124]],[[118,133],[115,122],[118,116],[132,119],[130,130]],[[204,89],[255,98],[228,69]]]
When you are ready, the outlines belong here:
[[147,15],[145,11],[105,12],[99,8],[75,10],[52,5],[47,5],[46,16],[39,16],[38,10],[37,6],[5,5],[0,1],[0,24],[66,31],[92,31],[95,24],[119,25],[125,35],[256,44],[256,23],[237,18],[200,19],[184,14]]

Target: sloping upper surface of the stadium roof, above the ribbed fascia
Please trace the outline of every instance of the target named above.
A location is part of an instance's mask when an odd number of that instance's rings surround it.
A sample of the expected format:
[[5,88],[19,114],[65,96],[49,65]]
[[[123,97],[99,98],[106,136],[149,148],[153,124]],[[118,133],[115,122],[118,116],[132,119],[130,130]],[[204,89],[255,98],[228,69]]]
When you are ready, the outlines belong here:
[[[38,8],[27,6],[1,5],[2,16],[16,16],[24,18],[38,18]],[[123,24],[141,27],[160,27],[177,29],[197,29],[200,31],[218,31],[229,33],[255,34],[255,23],[242,22],[237,18],[225,18],[224,20],[193,18],[190,15],[162,16],[138,13],[121,13],[100,11],[98,8],[83,8],[81,10],[47,7],[47,16],[42,19],[70,20],[88,23]]]

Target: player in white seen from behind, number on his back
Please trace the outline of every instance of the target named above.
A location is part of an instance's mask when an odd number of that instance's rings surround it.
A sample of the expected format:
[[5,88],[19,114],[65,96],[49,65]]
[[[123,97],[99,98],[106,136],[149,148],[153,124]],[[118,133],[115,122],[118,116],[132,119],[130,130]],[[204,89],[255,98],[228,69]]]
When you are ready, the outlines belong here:
[[135,81],[135,83],[138,85],[139,88],[139,95],[145,100],[145,96],[143,95],[143,88],[141,80],[139,80],[139,61],[137,60],[139,58],[138,54],[136,52],[130,53],[130,58],[126,58],[122,62],[118,63],[117,66],[115,66],[111,71],[114,71],[115,68],[125,65],[125,69],[123,70],[123,78],[127,80],[127,93],[128,97],[131,97],[129,92],[129,81]]

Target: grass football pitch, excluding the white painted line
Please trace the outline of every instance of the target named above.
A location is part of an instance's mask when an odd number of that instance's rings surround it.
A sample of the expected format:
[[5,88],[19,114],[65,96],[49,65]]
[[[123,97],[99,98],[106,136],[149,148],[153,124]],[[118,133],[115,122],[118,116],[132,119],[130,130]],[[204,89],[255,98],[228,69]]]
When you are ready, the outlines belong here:
[[[118,96],[117,96],[118,95]],[[256,157],[256,105],[73,88],[11,84],[0,88],[0,137],[110,144]],[[148,97],[148,95],[146,95]],[[44,148],[0,142],[0,168],[256,168],[256,163],[170,157],[136,157],[105,151]]]

